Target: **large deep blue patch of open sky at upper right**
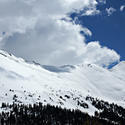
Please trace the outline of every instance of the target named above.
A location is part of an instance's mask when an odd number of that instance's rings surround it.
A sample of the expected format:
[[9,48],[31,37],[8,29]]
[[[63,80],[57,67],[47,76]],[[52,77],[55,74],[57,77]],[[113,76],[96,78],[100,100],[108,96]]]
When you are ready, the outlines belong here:
[[[81,16],[81,14],[72,14],[72,17],[78,17],[79,23],[92,31],[92,36],[87,37],[87,41],[100,41],[102,46],[107,46],[117,51],[121,60],[125,60],[125,9],[120,11],[120,7],[125,5],[125,0],[107,0],[106,4],[98,5],[100,14],[93,16]],[[106,8],[116,9],[110,16]]]

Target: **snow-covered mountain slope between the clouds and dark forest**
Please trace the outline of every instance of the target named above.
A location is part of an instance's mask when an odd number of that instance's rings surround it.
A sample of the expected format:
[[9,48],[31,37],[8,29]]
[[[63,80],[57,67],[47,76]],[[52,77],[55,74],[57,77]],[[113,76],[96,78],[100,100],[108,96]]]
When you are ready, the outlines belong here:
[[95,64],[40,66],[0,50],[0,103],[42,102],[92,115],[98,109],[86,100],[87,96],[125,108],[124,87],[125,62],[110,70]]

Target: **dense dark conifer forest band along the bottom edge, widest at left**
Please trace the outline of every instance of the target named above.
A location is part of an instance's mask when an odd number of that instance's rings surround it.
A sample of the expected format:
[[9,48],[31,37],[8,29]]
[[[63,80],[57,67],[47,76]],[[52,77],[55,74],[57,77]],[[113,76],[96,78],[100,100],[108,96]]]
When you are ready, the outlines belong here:
[[116,125],[110,120],[89,116],[79,110],[45,106],[42,103],[34,105],[2,103],[1,108],[8,110],[0,113],[1,125]]

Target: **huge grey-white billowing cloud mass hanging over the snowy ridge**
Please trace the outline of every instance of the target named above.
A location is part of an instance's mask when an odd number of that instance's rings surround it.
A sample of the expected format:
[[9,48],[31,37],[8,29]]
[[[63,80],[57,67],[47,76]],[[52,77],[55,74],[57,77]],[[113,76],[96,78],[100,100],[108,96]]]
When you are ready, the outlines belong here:
[[119,55],[99,42],[86,44],[80,32],[91,36],[91,31],[67,16],[83,8],[95,14],[97,4],[96,0],[0,0],[1,49],[41,64],[118,61]]

